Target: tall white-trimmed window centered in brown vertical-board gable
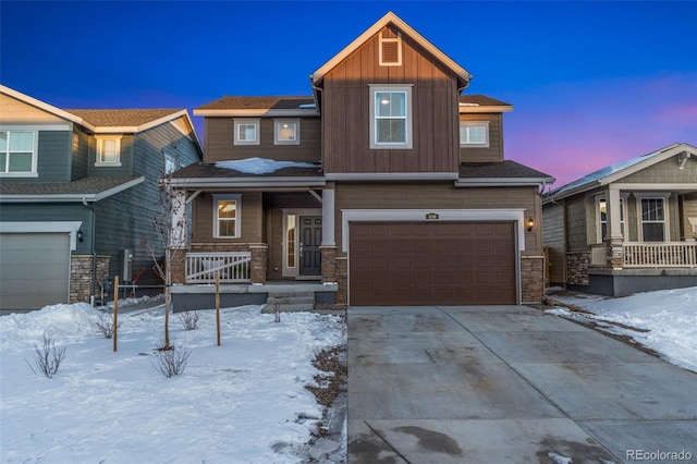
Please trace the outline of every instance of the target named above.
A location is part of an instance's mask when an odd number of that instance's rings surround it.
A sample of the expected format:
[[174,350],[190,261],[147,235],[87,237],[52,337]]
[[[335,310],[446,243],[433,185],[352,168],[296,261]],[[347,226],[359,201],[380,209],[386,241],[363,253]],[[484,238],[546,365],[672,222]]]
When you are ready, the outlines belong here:
[[412,86],[370,86],[370,148],[412,148]]

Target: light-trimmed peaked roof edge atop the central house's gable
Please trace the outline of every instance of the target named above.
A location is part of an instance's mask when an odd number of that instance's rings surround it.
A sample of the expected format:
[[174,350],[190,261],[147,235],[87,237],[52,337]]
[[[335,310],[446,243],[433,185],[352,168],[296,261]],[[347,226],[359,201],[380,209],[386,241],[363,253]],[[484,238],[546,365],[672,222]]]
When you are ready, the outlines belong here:
[[383,27],[389,24],[393,24],[399,28],[403,34],[415,40],[418,45],[424,47],[429,53],[431,53],[436,59],[442,62],[445,66],[448,66],[452,72],[454,72],[462,88],[466,88],[469,85],[469,81],[472,80],[472,74],[457,64],[453,59],[439,50],[436,46],[433,46],[430,41],[428,41],[424,36],[421,36],[418,32],[416,32],[412,26],[406,24],[402,19],[400,19],[392,11],[388,11],[381,19],[379,19],[375,24],[372,24],[368,29],[366,29],[363,34],[356,37],[348,46],[346,46],[343,50],[332,57],[329,61],[322,64],[317,71],[310,74],[310,82],[313,85],[318,86],[321,84],[325,75],[329,73],[335,65],[342,62],[346,57],[348,57],[352,52],[358,49],[363,44],[365,44],[372,36],[378,34]]

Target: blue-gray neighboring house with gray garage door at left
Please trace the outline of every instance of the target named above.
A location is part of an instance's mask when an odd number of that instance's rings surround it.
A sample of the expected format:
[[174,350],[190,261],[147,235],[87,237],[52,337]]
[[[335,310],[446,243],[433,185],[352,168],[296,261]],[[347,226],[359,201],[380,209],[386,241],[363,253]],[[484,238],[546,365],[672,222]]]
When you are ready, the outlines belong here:
[[0,307],[89,302],[114,276],[161,285],[158,180],[201,155],[186,110],[63,110],[0,86]]

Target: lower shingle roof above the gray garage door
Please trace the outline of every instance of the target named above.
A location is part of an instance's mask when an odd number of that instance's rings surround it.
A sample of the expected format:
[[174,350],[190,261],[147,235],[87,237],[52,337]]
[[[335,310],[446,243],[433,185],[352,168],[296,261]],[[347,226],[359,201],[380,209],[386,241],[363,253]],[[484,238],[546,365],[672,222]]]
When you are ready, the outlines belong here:
[[118,187],[139,175],[90,176],[73,182],[2,182],[0,195],[95,195]]

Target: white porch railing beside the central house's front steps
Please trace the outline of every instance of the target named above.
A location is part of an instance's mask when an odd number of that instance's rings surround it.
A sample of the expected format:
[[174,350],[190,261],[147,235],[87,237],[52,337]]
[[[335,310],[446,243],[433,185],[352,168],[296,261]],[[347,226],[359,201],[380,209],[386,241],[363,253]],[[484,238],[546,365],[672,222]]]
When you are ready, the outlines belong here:
[[216,272],[221,283],[244,283],[250,281],[250,271],[248,252],[186,254],[186,283],[213,283]]

